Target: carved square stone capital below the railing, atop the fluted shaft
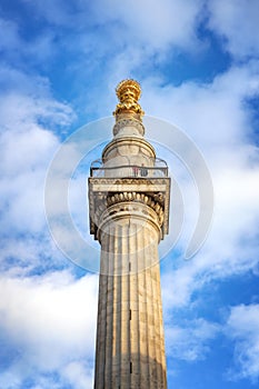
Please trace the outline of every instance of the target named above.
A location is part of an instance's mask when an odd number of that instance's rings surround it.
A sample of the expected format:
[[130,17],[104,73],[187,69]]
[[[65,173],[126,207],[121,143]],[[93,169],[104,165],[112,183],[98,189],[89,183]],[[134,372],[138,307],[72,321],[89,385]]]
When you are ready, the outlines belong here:
[[[108,216],[116,218],[118,212],[130,210],[135,217],[139,212],[141,218],[153,218],[163,239],[169,225],[169,178],[89,178],[90,232],[99,239],[99,227]],[[146,213],[139,203],[147,207]]]

